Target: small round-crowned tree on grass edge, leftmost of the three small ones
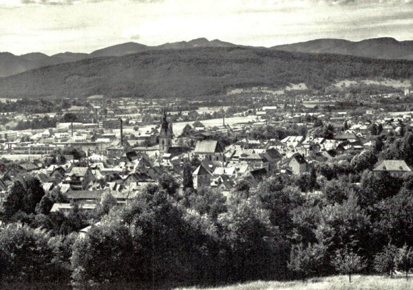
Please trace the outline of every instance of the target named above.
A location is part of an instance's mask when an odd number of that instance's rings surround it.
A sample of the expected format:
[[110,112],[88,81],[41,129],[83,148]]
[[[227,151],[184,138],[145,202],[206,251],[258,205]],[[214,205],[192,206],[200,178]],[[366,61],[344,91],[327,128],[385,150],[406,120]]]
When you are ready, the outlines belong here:
[[366,261],[361,256],[347,248],[338,249],[331,263],[340,274],[348,275],[348,282],[351,282],[352,274],[359,273],[367,267]]

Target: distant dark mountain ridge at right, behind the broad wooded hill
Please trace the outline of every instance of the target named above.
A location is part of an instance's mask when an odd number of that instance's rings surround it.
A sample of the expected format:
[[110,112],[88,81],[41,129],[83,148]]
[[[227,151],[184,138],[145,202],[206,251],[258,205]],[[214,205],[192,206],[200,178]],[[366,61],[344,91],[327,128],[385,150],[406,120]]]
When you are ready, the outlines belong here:
[[394,38],[372,38],[364,41],[326,38],[303,43],[277,45],[271,48],[286,52],[345,54],[368,58],[413,60],[413,41],[396,41]]

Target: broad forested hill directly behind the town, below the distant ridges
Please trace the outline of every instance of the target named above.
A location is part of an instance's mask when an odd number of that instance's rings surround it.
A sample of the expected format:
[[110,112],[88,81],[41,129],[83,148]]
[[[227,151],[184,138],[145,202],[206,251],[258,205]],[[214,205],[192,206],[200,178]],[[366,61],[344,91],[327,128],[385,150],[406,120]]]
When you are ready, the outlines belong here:
[[176,98],[242,87],[304,82],[324,89],[337,80],[413,76],[413,61],[302,54],[249,47],[161,49],[78,60],[0,78],[0,97],[92,95]]

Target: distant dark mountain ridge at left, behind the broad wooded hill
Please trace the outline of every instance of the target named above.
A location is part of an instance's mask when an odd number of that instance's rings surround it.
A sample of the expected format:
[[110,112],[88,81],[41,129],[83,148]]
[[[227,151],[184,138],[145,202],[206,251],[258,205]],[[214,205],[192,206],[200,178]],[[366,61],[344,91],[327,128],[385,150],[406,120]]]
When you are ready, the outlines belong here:
[[208,41],[207,38],[193,39],[192,41],[180,41],[178,43],[165,43],[158,46],[147,46],[140,43],[123,43],[103,49],[98,49],[90,54],[81,54],[73,52],[64,52],[47,56],[39,52],[23,54],[15,56],[9,52],[0,53],[0,78],[19,74],[30,69],[46,67],[49,65],[58,65],[60,63],[70,63],[85,58],[96,58],[102,56],[125,56],[127,54],[136,54],[147,50],[156,49],[184,49],[193,47],[233,47],[232,43],[213,40]]

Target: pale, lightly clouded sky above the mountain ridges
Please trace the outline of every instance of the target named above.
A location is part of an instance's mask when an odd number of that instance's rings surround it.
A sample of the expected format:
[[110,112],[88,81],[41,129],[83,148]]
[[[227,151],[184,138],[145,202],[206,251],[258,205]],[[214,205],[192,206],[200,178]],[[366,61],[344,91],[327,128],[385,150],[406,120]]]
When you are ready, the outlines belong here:
[[0,0],[0,52],[16,55],[200,37],[264,47],[413,40],[413,0]]

